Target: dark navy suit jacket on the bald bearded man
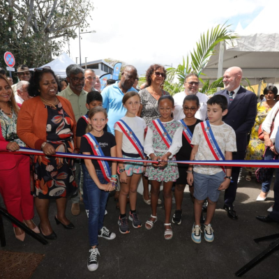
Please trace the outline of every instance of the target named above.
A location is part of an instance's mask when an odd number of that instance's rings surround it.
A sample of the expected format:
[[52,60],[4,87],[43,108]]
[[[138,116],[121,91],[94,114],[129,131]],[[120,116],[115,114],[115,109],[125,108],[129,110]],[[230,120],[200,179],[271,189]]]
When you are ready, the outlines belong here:
[[218,91],[214,95],[223,95],[227,98],[228,112],[223,116],[223,121],[231,126],[236,133],[237,151],[245,151],[247,133],[254,126],[257,116],[256,94],[241,86],[231,104],[229,103],[229,92],[226,89]]

